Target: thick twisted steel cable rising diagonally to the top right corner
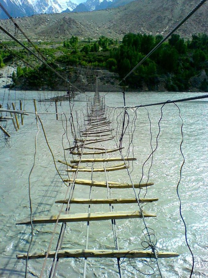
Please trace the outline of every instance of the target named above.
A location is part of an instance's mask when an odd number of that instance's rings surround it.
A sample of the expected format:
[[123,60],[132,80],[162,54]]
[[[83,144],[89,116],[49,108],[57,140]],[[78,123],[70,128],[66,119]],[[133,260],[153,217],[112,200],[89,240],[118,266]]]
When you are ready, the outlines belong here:
[[185,18],[182,19],[182,21],[179,22],[179,24],[177,26],[175,26],[175,28],[173,28],[171,30],[171,32],[169,34],[167,34],[167,36],[165,38],[163,38],[161,40],[161,42],[159,42],[119,83],[117,83],[117,85],[119,85],[120,83],[122,83],[123,81],[125,81],[125,79],[133,72],[137,69],[138,66],[140,66],[153,52],[155,52],[155,50],[158,49],[159,46],[161,46],[161,44],[163,44],[163,42],[165,42],[177,29],[179,29],[179,27],[186,22],[186,20],[188,18],[190,18],[190,16],[192,14],[194,14],[204,3],[206,2],[206,0],[202,0],[200,1],[193,10],[190,11],[190,13],[188,13],[186,15]]

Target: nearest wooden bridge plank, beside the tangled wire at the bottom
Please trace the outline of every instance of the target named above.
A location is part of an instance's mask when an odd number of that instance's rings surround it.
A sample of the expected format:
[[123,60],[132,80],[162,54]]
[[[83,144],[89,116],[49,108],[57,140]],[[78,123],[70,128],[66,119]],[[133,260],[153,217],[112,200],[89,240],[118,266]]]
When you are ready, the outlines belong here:
[[[45,258],[46,253],[29,254],[29,259]],[[56,252],[50,252],[48,258],[54,258]],[[157,252],[158,258],[178,257],[179,254],[175,252]],[[17,254],[17,259],[26,260],[27,254]],[[111,250],[111,249],[69,249],[59,250],[57,258],[154,258],[154,254],[150,250]]]

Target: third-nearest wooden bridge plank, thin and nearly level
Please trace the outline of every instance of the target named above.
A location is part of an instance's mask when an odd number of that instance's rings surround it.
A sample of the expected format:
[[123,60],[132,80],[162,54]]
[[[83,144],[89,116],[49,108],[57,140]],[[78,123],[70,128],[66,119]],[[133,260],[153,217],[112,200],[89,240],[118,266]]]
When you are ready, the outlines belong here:
[[[55,203],[67,204],[69,199],[58,200]],[[151,203],[158,201],[157,198],[154,199],[143,199],[139,198],[140,203]],[[114,199],[81,199],[73,198],[70,199],[71,204],[128,204],[128,203],[137,203],[136,198],[114,198]]]

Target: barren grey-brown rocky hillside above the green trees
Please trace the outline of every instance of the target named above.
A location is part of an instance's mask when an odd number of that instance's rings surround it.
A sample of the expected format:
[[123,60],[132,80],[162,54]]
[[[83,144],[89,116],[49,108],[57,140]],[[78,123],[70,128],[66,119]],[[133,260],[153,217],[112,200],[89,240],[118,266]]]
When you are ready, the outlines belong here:
[[[121,39],[128,32],[166,35],[197,3],[198,0],[143,0],[107,10],[40,14],[16,21],[32,39],[59,40],[71,35]],[[185,38],[207,33],[207,8],[206,2],[177,32]],[[1,20],[0,24],[14,34],[10,20]],[[7,39],[2,31],[0,36]]]

